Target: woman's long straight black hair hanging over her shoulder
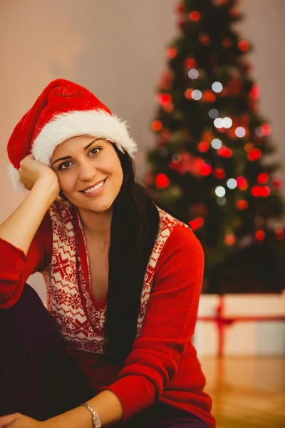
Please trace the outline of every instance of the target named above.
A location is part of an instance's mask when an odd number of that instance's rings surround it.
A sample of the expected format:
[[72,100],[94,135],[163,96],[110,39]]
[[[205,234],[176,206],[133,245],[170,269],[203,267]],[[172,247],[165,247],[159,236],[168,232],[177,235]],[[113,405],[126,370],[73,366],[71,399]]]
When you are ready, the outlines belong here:
[[157,237],[159,214],[152,195],[135,181],[133,159],[117,146],[123,184],[114,201],[109,250],[108,309],[103,360],[121,365],[137,331],[145,270]]

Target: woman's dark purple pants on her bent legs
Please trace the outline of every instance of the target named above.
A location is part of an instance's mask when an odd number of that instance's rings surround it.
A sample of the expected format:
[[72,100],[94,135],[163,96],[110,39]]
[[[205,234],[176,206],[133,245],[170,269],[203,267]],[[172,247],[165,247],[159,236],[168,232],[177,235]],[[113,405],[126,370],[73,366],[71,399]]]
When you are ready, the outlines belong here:
[[[51,315],[28,284],[14,307],[0,310],[0,338],[0,416],[19,412],[45,420],[93,397]],[[162,403],[121,425],[140,426],[208,427],[192,414]]]

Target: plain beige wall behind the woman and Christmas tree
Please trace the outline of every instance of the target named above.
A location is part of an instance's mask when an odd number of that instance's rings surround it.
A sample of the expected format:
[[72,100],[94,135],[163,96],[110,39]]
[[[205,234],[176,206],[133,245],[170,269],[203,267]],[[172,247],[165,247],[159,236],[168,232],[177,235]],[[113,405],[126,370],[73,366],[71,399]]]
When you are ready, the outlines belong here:
[[[21,202],[6,178],[6,141],[38,93],[53,78],[87,86],[128,120],[138,141],[138,170],[152,146],[148,125],[165,46],[175,34],[176,0],[9,0],[0,5],[0,221]],[[261,113],[274,128],[285,175],[285,1],[240,1],[242,36],[253,42],[253,76],[261,85]],[[42,285],[41,285],[42,292]]]

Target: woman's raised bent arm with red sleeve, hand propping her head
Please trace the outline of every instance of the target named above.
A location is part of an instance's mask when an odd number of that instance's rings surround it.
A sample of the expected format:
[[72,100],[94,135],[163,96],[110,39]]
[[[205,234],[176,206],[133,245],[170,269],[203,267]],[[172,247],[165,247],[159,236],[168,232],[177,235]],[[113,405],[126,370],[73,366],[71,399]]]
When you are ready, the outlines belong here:
[[59,192],[56,173],[31,155],[21,161],[19,177],[31,191],[0,226],[0,309],[19,300],[26,279],[49,255],[51,223],[43,218]]

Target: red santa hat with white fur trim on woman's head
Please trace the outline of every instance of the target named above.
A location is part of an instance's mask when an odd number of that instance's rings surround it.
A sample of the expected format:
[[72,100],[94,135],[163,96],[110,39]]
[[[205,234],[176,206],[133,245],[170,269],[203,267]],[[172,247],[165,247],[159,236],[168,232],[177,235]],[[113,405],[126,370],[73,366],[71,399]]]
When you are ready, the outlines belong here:
[[56,146],[75,136],[104,138],[132,158],[137,151],[124,121],[83,86],[58,78],[46,86],[11,134],[7,152],[14,188],[24,190],[18,170],[26,156],[32,153],[36,161],[50,165]]

